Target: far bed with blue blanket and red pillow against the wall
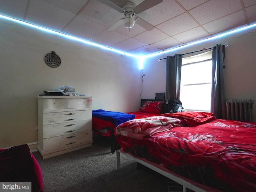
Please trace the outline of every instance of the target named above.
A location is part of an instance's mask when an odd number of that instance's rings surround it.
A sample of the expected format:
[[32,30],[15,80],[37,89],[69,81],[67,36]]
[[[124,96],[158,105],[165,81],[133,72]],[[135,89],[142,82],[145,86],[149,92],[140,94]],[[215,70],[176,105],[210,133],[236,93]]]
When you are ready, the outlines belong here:
[[116,137],[116,126],[131,119],[141,119],[166,113],[168,104],[165,99],[141,99],[139,111],[120,113],[103,109],[92,111],[92,130],[95,134],[111,139],[110,152]]

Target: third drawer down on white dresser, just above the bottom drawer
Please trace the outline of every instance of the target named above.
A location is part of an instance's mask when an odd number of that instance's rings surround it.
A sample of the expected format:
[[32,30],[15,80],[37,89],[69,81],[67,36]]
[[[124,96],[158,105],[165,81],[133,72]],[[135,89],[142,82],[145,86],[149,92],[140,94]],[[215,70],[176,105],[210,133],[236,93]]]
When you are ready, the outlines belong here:
[[43,126],[43,139],[92,129],[92,119]]

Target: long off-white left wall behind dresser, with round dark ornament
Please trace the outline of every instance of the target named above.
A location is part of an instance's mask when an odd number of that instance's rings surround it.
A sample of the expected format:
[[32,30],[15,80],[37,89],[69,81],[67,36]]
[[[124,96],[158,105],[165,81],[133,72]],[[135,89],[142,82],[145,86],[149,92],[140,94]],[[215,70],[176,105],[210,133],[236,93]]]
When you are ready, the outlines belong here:
[[[44,57],[55,51],[61,65]],[[140,69],[134,57],[0,19],[0,148],[37,142],[37,95],[75,86],[93,96],[93,109],[140,107]]]

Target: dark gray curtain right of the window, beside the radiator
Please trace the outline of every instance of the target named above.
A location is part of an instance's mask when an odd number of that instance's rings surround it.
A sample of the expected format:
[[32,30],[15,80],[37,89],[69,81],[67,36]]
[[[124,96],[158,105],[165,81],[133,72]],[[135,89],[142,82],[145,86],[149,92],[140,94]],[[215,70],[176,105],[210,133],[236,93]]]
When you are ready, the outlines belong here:
[[226,119],[226,97],[224,89],[224,61],[221,44],[212,50],[212,95],[211,112],[218,119]]

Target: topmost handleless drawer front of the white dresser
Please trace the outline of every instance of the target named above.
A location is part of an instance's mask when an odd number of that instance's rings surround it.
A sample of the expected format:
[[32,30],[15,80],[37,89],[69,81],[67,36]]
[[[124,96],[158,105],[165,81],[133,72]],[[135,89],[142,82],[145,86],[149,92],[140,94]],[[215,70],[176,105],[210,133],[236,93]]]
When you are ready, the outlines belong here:
[[92,98],[43,99],[43,110],[76,109],[88,107],[92,107]]

